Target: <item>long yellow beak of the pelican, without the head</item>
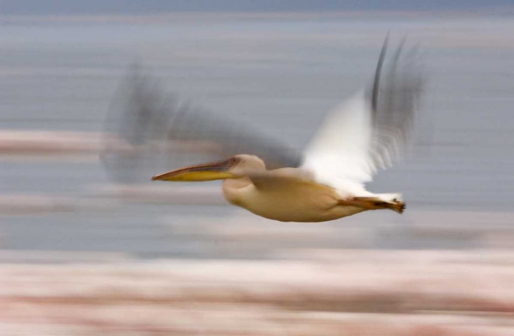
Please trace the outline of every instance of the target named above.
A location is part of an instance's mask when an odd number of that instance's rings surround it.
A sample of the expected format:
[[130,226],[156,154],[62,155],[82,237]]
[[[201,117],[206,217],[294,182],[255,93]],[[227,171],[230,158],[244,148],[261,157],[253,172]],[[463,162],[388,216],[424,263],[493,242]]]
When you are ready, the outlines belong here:
[[237,176],[229,171],[230,167],[230,160],[209,162],[155,175],[152,181],[200,182],[236,178]]

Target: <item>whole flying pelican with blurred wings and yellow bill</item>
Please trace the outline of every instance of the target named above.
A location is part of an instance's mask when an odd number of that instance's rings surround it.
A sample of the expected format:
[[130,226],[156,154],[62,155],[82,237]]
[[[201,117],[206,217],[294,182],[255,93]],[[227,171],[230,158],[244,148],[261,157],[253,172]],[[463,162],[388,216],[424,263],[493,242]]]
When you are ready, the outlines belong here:
[[323,222],[377,209],[401,214],[406,207],[401,193],[373,193],[364,184],[398,162],[412,138],[421,76],[415,52],[402,51],[404,41],[384,64],[386,38],[371,87],[329,111],[302,152],[242,124],[220,122],[190,104],[177,104],[174,97],[151,106],[156,85],[141,83],[132,87],[129,105],[136,123],[144,124],[139,133],[151,133],[151,141],[129,142],[153,143],[161,153],[180,144],[191,151],[199,144],[213,145],[206,152],[222,160],[180,167],[152,180],[223,180],[230,204],[271,220]]

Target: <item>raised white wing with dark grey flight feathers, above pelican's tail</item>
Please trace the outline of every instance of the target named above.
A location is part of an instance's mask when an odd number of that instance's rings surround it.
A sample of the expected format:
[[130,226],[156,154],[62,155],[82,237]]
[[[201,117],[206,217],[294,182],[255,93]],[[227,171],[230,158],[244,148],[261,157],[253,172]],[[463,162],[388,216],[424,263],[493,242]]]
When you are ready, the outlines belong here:
[[[302,168],[334,187],[337,181],[371,181],[378,168],[390,167],[401,158],[411,138],[421,74],[415,50],[402,54],[403,42],[392,59],[384,62],[387,42],[372,91],[359,93],[329,111],[305,150]],[[383,72],[382,67],[386,67]]]

